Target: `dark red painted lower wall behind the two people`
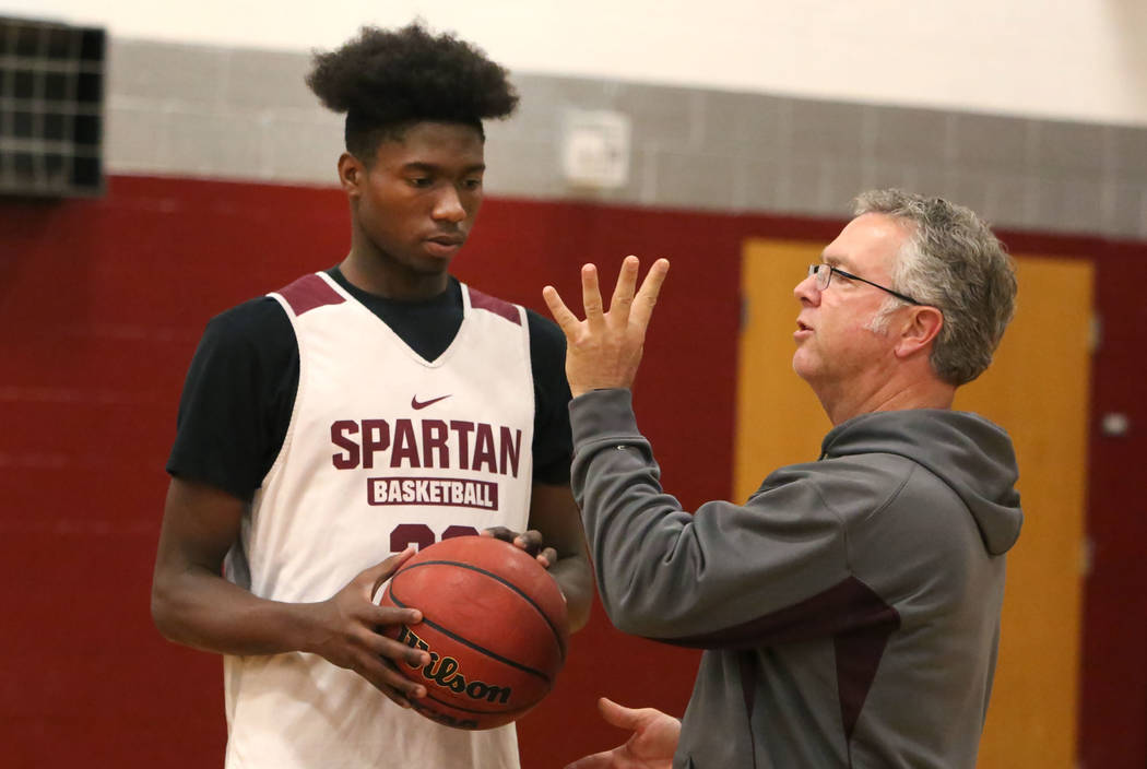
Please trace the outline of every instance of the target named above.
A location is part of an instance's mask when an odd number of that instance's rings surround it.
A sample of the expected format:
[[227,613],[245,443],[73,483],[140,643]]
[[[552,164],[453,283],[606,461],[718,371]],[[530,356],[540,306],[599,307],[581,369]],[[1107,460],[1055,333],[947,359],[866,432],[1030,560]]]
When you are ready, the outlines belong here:
[[[666,488],[693,507],[731,494],[742,240],[827,242],[841,224],[492,200],[457,272],[544,310],[547,282],[578,296],[585,261],[612,285],[625,254],[669,257],[638,417]],[[1141,394],[1147,324],[1142,302],[1126,298],[1147,278],[1147,244],[1008,240],[1016,251],[1095,259],[1109,332],[1095,410],[1118,403],[1147,424],[1142,398],[1130,397]],[[336,263],[346,247],[345,201],[334,189],[118,177],[103,200],[0,202],[5,766],[220,766],[219,660],[166,643],[148,613],[182,376],[210,316]],[[1147,456],[1142,441],[1092,445],[1087,766],[1141,767],[1147,755],[1147,580],[1134,537],[1147,518],[1131,464]],[[696,659],[623,636],[595,607],[555,693],[522,722],[525,768],[621,741],[596,715],[599,694],[680,713]]]

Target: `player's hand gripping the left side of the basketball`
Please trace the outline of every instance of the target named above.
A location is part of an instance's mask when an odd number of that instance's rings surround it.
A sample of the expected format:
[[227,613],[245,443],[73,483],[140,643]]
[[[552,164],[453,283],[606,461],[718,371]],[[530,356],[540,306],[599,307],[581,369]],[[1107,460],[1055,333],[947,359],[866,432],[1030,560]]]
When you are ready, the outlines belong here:
[[414,608],[376,606],[372,598],[379,585],[413,554],[411,547],[391,556],[359,573],[330,599],[301,605],[309,607],[312,623],[311,642],[304,651],[353,670],[406,708],[411,707],[411,698],[426,696],[426,688],[403,676],[395,666],[424,665],[429,655],[388,638],[380,628],[421,622],[422,613]]

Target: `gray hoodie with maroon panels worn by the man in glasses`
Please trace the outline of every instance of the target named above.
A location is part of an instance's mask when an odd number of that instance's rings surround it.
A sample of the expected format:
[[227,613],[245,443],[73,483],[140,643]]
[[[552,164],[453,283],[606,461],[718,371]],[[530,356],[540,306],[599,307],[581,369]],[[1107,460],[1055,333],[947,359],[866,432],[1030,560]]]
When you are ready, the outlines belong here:
[[627,390],[570,417],[610,620],[705,650],[674,768],[975,766],[1023,519],[1002,429],[864,414],[746,505],[690,514],[662,491]]

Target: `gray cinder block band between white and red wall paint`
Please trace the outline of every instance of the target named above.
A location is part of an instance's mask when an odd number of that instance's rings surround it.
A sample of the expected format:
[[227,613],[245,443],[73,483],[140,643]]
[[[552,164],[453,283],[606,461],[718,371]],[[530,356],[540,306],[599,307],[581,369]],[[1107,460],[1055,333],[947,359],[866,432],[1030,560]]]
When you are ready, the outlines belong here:
[[[110,173],[334,185],[342,121],[303,83],[310,56],[112,39]],[[516,72],[518,114],[487,126],[487,193],[840,218],[899,186],[1015,230],[1147,239],[1147,127]],[[632,124],[627,181],[570,186],[569,110]]]

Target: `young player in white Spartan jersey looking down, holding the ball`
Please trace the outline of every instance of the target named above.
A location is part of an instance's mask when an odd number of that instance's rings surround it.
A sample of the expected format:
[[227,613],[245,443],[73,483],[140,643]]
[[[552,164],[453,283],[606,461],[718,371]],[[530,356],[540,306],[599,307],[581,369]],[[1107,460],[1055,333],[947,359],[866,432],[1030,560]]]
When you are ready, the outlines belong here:
[[415,545],[493,529],[549,567],[574,629],[587,617],[562,335],[448,272],[482,203],[482,121],[517,95],[481,51],[416,24],[364,29],[307,84],[346,112],[350,253],[208,325],[153,615],[225,655],[228,768],[514,768],[513,725],[411,709],[426,686],[395,666],[429,657],[381,630],[420,614],[373,598]]

